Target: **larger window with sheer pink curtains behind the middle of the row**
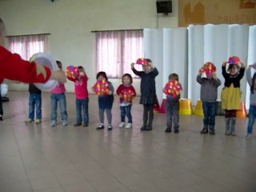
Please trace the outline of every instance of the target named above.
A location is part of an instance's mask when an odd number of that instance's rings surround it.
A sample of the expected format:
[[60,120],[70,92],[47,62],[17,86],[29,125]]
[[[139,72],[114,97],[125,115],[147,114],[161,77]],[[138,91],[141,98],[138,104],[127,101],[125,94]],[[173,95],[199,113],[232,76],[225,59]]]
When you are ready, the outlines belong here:
[[125,73],[135,76],[130,70],[130,63],[142,57],[142,30],[96,33],[97,71],[105,71],[109,78],[122,78]]

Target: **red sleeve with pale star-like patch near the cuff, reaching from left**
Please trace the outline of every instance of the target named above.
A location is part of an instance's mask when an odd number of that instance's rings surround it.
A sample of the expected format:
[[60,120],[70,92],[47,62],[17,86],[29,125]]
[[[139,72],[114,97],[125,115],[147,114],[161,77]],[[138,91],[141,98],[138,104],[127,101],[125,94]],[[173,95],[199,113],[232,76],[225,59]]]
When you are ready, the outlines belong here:
[[27,62],[18,54],[0,46],[0,82],[4,78],[19,82],[47,82],[50,78],[50,69],[39,66],[35,62]]

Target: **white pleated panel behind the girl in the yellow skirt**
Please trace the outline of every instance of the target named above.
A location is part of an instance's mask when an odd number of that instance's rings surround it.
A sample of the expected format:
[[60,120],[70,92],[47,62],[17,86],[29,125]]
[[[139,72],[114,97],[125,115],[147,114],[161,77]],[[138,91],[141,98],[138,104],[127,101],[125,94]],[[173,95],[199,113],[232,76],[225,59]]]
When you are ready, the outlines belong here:
[[[196,83],[198,70],[205,62],[214,62],[222,86],[218,88],[218,99],[224,85],[222,62],[230,56],[247,58],[248,25],[189,26],[189,98],[196,104],[200,97],[200,86]],[[246,78],[241,81],[242,101],[246,100]]]

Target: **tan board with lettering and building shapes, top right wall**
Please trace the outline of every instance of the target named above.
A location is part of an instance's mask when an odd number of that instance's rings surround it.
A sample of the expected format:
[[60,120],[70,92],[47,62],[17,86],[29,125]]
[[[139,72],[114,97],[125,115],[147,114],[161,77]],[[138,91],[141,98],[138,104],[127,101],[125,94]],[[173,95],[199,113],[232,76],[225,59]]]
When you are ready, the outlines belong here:
[[256,0],[179,0],[178,26],[256,24]]

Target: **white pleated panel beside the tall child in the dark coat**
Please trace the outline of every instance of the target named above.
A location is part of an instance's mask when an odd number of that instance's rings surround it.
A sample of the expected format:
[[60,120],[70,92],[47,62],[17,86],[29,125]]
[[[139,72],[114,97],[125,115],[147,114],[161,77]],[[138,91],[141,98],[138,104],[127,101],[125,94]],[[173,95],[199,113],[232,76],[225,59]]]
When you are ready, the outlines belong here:
[[170,73],[177,73],[183,86],[183,97],[187,94],[187,32],[186,28],[145,29],[145,57],[151,58],[158,67],[156,91],[159,104],[162,103],[162,88]]

